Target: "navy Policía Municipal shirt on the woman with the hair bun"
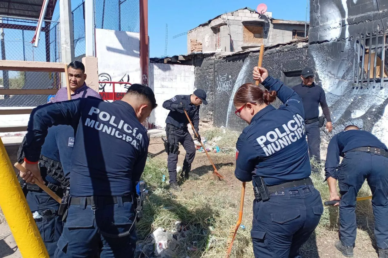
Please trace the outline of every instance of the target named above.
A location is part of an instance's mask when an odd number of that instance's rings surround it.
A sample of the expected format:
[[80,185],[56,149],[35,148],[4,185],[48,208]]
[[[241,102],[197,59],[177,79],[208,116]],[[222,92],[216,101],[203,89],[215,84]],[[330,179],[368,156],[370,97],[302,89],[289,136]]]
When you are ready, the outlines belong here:
[[236,143],[234,173],[243,182],[260,175],[268,186],[307,178],[311,167],[302,100],[277,79],[268,77],[262,84],[276,91],[284,104],[279,109],[263,108],[242,131]]

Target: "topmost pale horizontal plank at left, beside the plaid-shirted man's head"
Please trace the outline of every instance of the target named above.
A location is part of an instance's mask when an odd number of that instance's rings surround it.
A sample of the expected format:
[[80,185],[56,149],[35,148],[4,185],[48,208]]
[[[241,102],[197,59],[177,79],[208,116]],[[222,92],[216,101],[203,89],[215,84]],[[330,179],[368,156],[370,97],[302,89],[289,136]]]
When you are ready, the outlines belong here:
[[65,72],[64,63],[0,60],[0,70],[22,72]]

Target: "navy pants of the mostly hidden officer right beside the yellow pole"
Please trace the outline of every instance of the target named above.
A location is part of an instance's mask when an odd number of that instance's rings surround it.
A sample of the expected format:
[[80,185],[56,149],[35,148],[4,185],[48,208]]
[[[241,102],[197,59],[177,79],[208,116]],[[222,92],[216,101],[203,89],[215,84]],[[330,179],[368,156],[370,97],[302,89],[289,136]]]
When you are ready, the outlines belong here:
[[[26,200],[50,257],[54,257],[57,241],[62,234],[62,216],[58,215],[59,203],[46,192],[28,191]],[[37,213],[36,213],[37,212]]]

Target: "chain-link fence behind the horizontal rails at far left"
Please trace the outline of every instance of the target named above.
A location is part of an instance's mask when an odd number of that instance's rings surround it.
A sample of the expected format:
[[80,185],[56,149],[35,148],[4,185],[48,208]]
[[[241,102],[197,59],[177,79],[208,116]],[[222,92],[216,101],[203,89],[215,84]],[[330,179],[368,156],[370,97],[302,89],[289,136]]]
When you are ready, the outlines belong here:
[[[38,21],[0,17],[2,60],[60,62],[59,22],[44,21],[38,47],[31,40]],[[58,89],[58,72],[0,71],[0,89]],[[47,95],[0,95],[0,107],[28,107],[47,103]]]

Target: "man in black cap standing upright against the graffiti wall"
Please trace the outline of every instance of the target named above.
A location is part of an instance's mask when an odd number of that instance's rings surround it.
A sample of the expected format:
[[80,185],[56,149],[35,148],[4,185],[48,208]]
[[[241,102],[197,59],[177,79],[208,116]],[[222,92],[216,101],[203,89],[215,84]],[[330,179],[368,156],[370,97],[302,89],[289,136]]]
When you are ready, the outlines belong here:
[[[322,112],[326,117],[326,129],[331,132],[333,124],[331,123],[329,107],[326,103],[325,91],[322,87],[314,83],[314,72],[310,67],[302,70],[302,82],[293,87],[293,90],[302,98],[305,109],[306,135],[308,141],[308,153],[310,158],[320,163],[320,121],[319,121],[319,104]],[[323,123],[322,123],[323,126]],[[312,167],[312,171],[319,172],[319,168]]]

